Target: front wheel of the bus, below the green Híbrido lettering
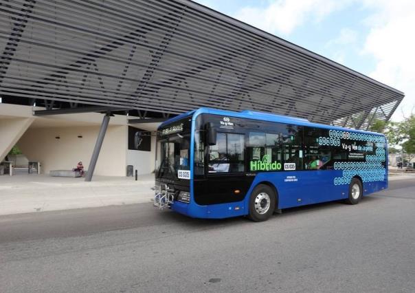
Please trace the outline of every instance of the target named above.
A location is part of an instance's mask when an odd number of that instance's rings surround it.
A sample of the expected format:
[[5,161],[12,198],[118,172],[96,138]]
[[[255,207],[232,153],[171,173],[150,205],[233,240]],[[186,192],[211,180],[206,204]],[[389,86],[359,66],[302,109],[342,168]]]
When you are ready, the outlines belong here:
[[271,187],[259,184],[249,197],[249,219],[267,221],[276,209],[276,194]]

